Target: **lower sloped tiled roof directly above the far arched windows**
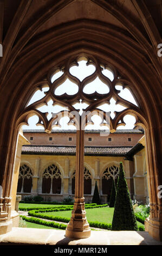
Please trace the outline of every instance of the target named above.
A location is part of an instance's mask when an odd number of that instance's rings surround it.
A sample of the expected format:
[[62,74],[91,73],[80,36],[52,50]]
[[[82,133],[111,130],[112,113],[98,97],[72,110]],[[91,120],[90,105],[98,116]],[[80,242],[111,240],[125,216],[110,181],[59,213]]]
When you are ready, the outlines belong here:
[[[85,155],[125,155],[132,147],[85,147]],[[24,145],[22,154],[75,154],[76,147]]]

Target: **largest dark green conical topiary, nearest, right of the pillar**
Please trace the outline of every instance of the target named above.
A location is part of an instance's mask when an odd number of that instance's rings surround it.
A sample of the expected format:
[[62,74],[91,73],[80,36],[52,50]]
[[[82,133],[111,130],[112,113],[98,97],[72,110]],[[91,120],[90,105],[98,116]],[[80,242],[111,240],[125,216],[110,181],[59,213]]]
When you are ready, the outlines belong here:
[[111,230],[138,230],[122,162],[120,162]]

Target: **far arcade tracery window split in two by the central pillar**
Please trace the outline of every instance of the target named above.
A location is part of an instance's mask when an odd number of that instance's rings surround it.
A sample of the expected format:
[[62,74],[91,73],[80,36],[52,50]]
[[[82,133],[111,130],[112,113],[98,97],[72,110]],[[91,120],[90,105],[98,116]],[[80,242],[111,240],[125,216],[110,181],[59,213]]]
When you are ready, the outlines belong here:
[[[92,192],[92,176],[89,170],[84,168],[84,194],[91,194]],[[75,194],[75,171],[72,175],[72,194]]]

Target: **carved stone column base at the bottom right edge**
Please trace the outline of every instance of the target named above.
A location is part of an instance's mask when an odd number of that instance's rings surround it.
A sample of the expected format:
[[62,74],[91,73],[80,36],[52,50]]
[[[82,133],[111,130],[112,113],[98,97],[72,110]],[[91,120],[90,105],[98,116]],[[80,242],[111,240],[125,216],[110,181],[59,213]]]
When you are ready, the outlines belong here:
[[145,228],[153,239],[162,241],[162,222],[159,222],[159,220],[146,218]]

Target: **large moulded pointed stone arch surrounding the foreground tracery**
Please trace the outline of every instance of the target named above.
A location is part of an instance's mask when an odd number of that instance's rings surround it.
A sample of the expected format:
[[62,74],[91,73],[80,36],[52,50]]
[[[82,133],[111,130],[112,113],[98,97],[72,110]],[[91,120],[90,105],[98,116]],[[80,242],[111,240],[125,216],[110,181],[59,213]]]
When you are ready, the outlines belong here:
[[[49,33],[51,40],[47,40],[47,34],[44,37],[41,34],[38,40],[42,39],[42,44],[39,41],[37,41],[37,44],[35,44],[35,41],[33,44],[27,44],[24,36],[18,44],[20,46],[21,42],[23,42],[21,44],[24,46],[23,51],[21,51],[22,47],[14,49],[15,63],[12,63],[12,67],[10,62],[5,63],[5,68],[8,67],[8,69],[4,68],[3,72],[7,70],[8,74],[5,73],[5,76],[1,75],[1,79],[3,79],[1,90],[3,99],[1,101],[1,120],[3,120],[3,123],[0,155],[3,156],[3,159],[0,168],[0,184],[3,186],[3,197],[9,198],[10,196],[18,128],[26,123],[25,117],[22,117],[21,113],[25,100],[29,99],[31,89],[34,88],[33,85],[38,82],[40,77],[44,79],[44,75],[53,67],[54,63],[56,65],[61,62],[63,63],[72,54],[83,52],[94,54],[100,59],[105,60],[105,62],[114,64],[119,69],[120,74],[124,74],[129,78],[133,84],[133,94],[139,97],[139,104],[144,113],[144,117],[140,116],[139,118],[142,119],[145,126],[148,179],[150,180],[150,234],[161,239],[161,198],[157,196],[158,185],[161,185],[162,182],[160,174],[162,166],[161,152],[159,150],[162,148],[161,120],[159,118],[161,111],[160,60],[157,58],[157,52],[153,51],[149,40],[146,40],[140,29],[133,25],[132,20],[129,20],[127,15],[127,17],[124,16],[123,10],[120,10],[115,4],[111,6],[110,3],[105,1],[100,2],[94,0],[93,2],[102,5],[103,8],[111,11],[112,15],[115,17],[118,16],[120,20],[124,18],[125,27],[128,25],[128,30],[135,37],[135,40],[132,40],[128,35],[122,34],[115,29],[113,36],[111,36],[112,30],[107,24],[104,26],[103,23],[99,22],[99,24],[96,24],[96,22],[95,26],[93,26],[94,23],[92,21],[83,21],[83,23],[79,21],[80,23],[76,22],[74,26],[70,24],[71,27],[68,24],[66,27],[62,25],[53,29],[53,33],[56,36],[54,38]],[[139,8],[139,10],[141,9]],[[63,26],[64,34],[60,33]],[[132,29],[133,31],[131,32]],[[71,33],[68,37],[67,32]],[[76,34],[78,36],[77,42]],[[59,38],[60,35],[61,38]],[[15,31],[13,36],[15,36]],[[29,39],[30,36],[28,36]],[[14,41],[14,37],[10,37],[10,40]],[[55,43],[56,41],[57,44]],[[155,40],[152,41],[155,42]],[[66,42],[65,45],[63,45],[64,42]],[[124,42],[124,44],[121,42]],[[10,49],[12,48],[11,45],[9,46]],[[122,51],[120,51],[120,46],[122,46]],[[59,51],[56,51],[57,48],[59,48]],[[32,51],[33,49],[35,52]],[[11,55],[9,56],[10,60],[12,59],[12,53],[13,51],[11,51]],[[5,79],[6,77],[7,79]],[[8,84],[10,84],[10,88]],[[154,84],[157,86],[155,87]],[[13,92],[14,97],[12,97]],[[4,97],[4,95],[6,96]]]

